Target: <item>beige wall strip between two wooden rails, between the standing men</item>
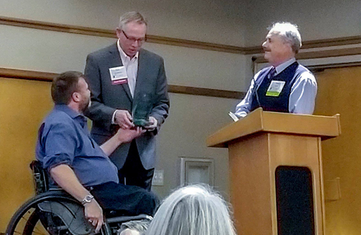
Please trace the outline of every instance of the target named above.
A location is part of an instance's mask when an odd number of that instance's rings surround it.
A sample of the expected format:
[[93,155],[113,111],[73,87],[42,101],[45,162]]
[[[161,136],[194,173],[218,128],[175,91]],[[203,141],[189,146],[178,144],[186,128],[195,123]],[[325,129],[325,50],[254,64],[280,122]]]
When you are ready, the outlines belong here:
[[145,48],[163,56],[169,84],[229,91],[248,86],[244,55],[154,43]]

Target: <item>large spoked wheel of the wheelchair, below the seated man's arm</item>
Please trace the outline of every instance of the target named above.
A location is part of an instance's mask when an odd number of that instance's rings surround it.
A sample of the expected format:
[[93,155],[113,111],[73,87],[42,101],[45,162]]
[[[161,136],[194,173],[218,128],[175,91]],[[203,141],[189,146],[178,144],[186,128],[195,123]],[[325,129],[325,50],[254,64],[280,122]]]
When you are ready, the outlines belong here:
[[[89,235],[94,227],[83,206],[65,192],[45,192],[27,201],[12,216],[6,235]],[[105,224],[102,235],[111,235]]]

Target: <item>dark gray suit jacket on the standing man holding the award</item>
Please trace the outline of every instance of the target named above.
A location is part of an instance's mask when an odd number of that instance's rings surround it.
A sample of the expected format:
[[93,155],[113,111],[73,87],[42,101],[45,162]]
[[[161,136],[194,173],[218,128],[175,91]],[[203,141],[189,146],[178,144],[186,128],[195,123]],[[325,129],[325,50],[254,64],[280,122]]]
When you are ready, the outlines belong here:
[[[87,56],[85,76],[89,79],[91,89],[91,107],[85,115],[93,121],[91,136],[98,144],[106,142],[119,128],[118,125],[111,124],[114,111],[125,109],[131,113],[133,105],[142,94],[151,94],[153,109],[150,115],[157,119],[158,126],[155,131],[146,132],[135,139],[140,160],[144,168],[149,170],[155,167],[155,135],[168,116],[169,109],[163,58],[140,49],[134,99],[128,84],[111,84],[109,68],[119,66],[122,66],[122,60],[116,43]],[[122,144],[110,156],[119,169],[127,159],[129,147],[130,143]]]

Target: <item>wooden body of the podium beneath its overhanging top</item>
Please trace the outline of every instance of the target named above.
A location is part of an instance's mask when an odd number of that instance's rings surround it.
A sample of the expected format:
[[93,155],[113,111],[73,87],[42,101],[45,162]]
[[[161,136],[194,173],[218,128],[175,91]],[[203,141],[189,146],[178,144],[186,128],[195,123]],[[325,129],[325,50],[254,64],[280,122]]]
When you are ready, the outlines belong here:
[[[287,224],[291,227],[307,227],[309,233],[301,231],[302,235],[324,234],[320,137],[256,133],[228,142],[228,148],[231,203],[238,234],[284,235],[287,234],[283,232]],[[277,212],[279,214],[283,211],[277,208],[276,169],[279,166],[309,169],[309,173],[303,175],[302,183],[305,191],[308,188],[307,193],[311,197],[311,201],[305,197],[308,200],[305,203],[309,207],[305,209],[308,214],[306,218],[294,221],[293,225],[282,219],[286,218],[283,214],[279,218],[277,216]],[[284,187],[289,181],[281,179],[278,183]],[[279,197],[282,197],[281,194],[278,194]],[[278,229],[278,226],[282,228]]]

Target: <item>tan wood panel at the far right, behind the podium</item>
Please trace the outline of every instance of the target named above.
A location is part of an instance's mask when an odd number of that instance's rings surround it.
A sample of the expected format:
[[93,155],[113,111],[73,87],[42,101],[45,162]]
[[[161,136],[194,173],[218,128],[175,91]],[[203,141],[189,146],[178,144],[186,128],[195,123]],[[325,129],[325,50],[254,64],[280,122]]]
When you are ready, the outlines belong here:
[[340,199],[339,195],[328,195],[333,200],[325,202],[326,234],[360,234],[361,67],[326,69],[316,78],[315,114],[340,113],[342,130],[340,137],[322,142],[325,186],[340,177]]

